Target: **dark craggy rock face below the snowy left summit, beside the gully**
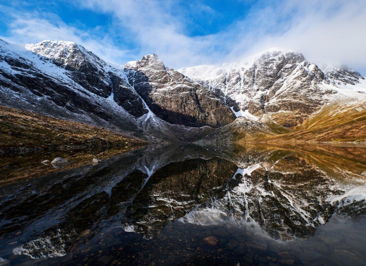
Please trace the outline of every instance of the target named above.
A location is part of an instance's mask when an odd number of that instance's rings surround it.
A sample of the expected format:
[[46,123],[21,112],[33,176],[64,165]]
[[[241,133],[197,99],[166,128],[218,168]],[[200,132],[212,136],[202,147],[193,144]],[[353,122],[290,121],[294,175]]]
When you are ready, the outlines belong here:
[[113,99],[134,117],[147,113],[140,97],[131,88],[123,70],[112,67],[81,45],[68,41],[42,41],[26,48],[51,59],[68,70],[67,75],[84,89],[103,98]]

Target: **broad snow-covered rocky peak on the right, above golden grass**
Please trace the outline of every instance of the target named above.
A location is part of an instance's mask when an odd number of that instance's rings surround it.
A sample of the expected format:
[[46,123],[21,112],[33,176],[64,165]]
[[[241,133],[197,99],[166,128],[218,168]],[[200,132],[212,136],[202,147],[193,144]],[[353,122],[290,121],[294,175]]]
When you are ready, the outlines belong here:
[[195,66],[178,71],[216,95],[223,94],[221,97],[234,111],[236,103],[242,111],[257,117],[269,114],[286,127],[302,123],[339,96],[340,88],[335,85],[355,85],[364,80],[346,66],[322,71],[301,53],[279,48],[222,67]]

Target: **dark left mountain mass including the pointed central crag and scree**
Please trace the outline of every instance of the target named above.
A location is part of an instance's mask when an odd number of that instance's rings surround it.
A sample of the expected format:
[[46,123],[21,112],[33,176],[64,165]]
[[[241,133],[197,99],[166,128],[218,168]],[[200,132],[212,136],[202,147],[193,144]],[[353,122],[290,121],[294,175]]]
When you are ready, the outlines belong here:
[[156,55],[133,68],[109,64],[68,41],[24,48],[1,40],[0,62],[0,104],[8,107],[149,141],[189,141],[235,119],[220,98],[167,70]]

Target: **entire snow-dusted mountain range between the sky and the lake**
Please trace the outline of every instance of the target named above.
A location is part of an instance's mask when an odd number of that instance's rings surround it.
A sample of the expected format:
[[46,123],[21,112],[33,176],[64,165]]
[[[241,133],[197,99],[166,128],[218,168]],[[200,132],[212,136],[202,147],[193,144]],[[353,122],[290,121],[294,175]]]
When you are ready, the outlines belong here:
[[[119,65],[69,41],[0,40],[0,105],[149,142],[365,141],[365,101],[357,71],[278,48],[175,71],[156,54]],[[314,129],[320,117],[328,123]]]

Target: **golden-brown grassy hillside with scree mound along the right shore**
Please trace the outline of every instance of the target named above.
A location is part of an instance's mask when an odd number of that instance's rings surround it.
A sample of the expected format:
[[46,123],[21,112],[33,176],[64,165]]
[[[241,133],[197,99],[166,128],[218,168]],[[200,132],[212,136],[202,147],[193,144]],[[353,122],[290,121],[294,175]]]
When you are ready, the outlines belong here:
[[352,106],[344,106],[343,103],[327,105],[304,123],[292,128],[281,126],[269,115],[264,115],[258,121],[239,117],[234,122],[213,130],[201,141],[362,143],[366,141],[366,103]]

